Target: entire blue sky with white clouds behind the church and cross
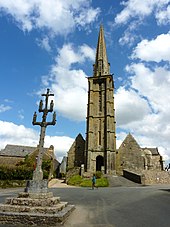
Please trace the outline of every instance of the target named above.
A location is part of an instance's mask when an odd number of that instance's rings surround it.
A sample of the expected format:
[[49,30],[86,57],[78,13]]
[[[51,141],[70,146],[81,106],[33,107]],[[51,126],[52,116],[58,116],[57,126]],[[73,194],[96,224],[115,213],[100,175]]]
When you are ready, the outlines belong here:
[[100,24],[115,81],[117,147],[130,132],[170,162],[170,0],[0,0],[0,149],[38,144],[32,116],[47,88],[57,124],[45,146],[61,160],[78,133],[85,138]]

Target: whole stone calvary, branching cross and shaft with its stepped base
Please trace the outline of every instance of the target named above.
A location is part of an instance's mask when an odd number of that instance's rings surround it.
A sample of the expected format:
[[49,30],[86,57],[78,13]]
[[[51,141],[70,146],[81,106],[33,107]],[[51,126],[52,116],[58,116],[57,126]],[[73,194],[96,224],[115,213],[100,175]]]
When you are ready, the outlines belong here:
[[43,180],[42,157],[45,138],[45,129],[48,125],[55,125],[56,114],[53,114],[53,121],[46,122],[48,112],[53,111],[53,101],[48,109],[48,97],[53,94],[42,96],[46,97],[45,108],[40,101],[39,112],[43,112],[42,122],[36,122],[36,112],[33,116],[33,125],[41,126],[39,155],[36,169],[33,173],[33,180],[27,182],[25,191],[18,194],[17,198],[7,198],[5,204],[0,204],[0,223],[23,225],[23,226],[55,226],[56,223],[62,223],[68,217],[71,211],[75,209],[74,205],[67,202],[61,202],[59,197],[54,197],[52,192],[48,191],[48,180]]

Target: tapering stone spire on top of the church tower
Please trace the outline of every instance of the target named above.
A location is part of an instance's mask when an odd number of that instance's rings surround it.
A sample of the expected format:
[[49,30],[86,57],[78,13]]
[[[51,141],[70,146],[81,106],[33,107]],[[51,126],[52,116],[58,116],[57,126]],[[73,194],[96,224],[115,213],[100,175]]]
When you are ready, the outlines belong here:
[[110,75],[110,64],[107,60],[104,29],[102,25],[100,25],[100,32],[96,50],[96,60],[93,67],[93,76]]

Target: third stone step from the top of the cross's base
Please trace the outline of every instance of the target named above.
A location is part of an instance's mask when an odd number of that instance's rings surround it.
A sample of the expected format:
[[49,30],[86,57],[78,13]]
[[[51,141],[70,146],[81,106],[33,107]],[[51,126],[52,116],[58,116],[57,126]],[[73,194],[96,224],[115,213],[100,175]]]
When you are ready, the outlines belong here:
[[55,214],[61,211],[68,205],[68,202],[60,202],[52,207],[48,206],[19,206],[10,204],[0,204],[0,212],[24,212],[24,213],[44,213],[44,214]]

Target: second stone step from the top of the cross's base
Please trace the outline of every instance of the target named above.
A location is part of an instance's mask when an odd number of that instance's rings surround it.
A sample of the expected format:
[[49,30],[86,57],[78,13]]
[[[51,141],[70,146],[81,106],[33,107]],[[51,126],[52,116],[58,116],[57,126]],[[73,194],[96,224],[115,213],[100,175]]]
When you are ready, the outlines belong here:
[[60,197],[31,199],[31,198],[6,198],[6,204],[18,206],[54,206],[60,203]]

